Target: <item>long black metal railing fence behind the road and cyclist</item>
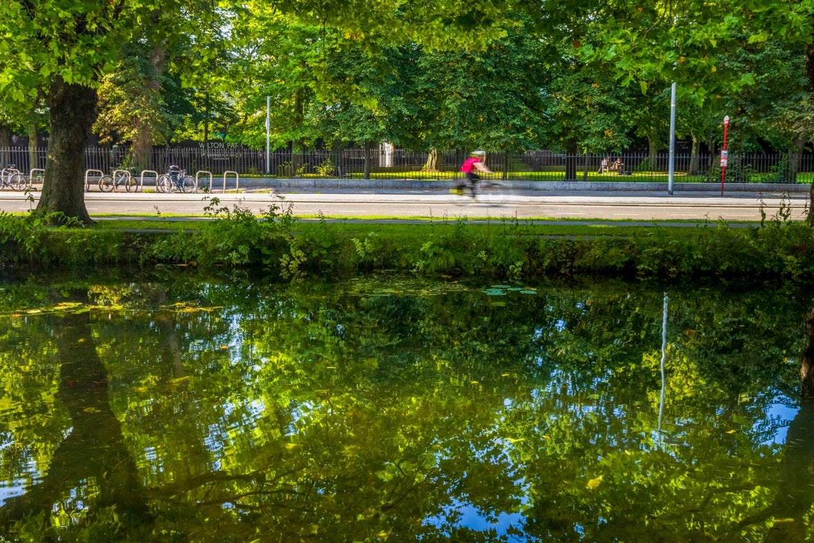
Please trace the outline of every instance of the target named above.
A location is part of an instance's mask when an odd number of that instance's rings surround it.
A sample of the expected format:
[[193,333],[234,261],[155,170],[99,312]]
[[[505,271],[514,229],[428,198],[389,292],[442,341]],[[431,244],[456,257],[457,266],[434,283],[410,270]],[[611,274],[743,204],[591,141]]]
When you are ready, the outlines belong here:
[[[240,176],[271,177],[370,177],[372,179],[448,179],[457,177],[467,151],[427,153],[383,145],[374,149],[346,148],[341,151],[264,151],[209,144],[208,147],[155,147],[138,168],[158,173],[177,164],[187,172],[215,176],[232,172]],[[613,164],[619,160],[619,167]],[[603,167],[603,160],[609,167]],[[20,171],[46,168],[46,149],[0,148],[0,164],[15,164]],[[110,172],[132,164],[125,147],[88,147],[87,169]],[[540,181],[591,180],[666,181],[669,156],[627,153],[622,155],[565,155],[551,151],[488,153],[486,164],[494,177]],[[680,182],[720,182],[718,155],[675,155],[673,171]],[[138,173],[138,172],[137,172]],[[624,176],[624,179],[618,176]],[[729,153],[726,182],[812,183],[814,155]]]

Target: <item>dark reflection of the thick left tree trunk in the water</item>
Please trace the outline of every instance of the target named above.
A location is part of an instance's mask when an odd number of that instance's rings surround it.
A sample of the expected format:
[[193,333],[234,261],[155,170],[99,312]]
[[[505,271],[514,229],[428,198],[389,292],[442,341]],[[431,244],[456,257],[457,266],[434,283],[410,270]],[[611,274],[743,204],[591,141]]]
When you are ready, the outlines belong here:
[[143,523],[147,503],[120,423],[110,409],[107,372],[90,334],[89,314],[52,317],[51,322],[61,368],[57,396],[71,416],[71,431],[55,449],[42,480],[0,508],[0,523],[8,526],[28,515],[50,515],[60,502],[67,509],[68,488],[87,500],[89,519],[115,507],[122,523]]

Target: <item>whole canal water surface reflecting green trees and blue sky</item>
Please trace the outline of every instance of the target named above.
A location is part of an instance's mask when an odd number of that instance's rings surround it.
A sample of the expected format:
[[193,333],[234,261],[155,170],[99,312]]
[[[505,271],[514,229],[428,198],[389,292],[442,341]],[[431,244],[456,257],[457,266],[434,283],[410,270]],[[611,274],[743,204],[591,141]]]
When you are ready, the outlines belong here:
[[807,533],[807,308],[781,293],[66,283],[0,290],[12,541]]

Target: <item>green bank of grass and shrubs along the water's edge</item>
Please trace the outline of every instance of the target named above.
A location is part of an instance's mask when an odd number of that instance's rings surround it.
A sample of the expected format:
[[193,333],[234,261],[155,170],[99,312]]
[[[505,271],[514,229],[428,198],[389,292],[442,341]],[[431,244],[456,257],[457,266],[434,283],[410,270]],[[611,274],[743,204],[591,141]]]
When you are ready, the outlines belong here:
[[283,278],[395,269],[506,281],[599,274],[655,280],[810,281],[814,230],[775,218],[755,226],[563,230],[521,221],[358,224],[303,221],[272,206],[261,217],[212,208],[209,221],[105,221],[53,227],[50,217],[0,215],[0,265],[37,269],[197,265]]

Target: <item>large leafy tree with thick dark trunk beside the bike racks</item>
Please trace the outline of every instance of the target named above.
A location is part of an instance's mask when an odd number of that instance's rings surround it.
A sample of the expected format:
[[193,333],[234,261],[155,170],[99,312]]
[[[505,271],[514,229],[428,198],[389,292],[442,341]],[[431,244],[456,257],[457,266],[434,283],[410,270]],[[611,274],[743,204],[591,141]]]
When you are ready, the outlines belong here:
[[[24,102],[44,96],[50,115],[48,168],[38,212],[89,222],[84,150],[95,120],[95,86],[116,60],[141,7],[126,2],[6,2],[0,20],[0,88]],[[131,16],[133,17],[131,19]]]

